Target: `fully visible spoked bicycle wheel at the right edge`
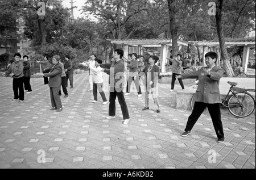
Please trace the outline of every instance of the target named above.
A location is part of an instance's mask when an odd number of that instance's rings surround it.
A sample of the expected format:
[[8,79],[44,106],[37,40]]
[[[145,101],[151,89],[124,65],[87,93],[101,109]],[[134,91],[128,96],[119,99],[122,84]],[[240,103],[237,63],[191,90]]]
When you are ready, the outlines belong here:
[[236,92],[228,99],[229,112],[238,118],[244,118],[253,113],[255,100],[247,92]]

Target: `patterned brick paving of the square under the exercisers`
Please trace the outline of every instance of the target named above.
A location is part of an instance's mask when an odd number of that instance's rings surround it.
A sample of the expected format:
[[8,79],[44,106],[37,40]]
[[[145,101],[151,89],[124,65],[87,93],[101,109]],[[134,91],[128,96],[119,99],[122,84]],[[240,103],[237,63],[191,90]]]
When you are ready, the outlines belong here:
[[[92,103],[88,73],[76,74],[63,111],[49,111],[49,87],[32,78],[33,93],[12,102],[12,79],[0,77],[0,168],[255,168],[255,119],[222,116],[226,141],[217,143],[203,115],[191,135],[181,137],[189,111],[176,110],[175,92],[160,84],[160,114],[142,111],[144,93],[126,97],[130,123],[105,119],[108,104]],[[175,89],[179,90],[177,85]],[[106,93],[109,98],[109,94]],[[42,163],[45,153],[45,163]],[[40,163],[41,162],[41,163]]]

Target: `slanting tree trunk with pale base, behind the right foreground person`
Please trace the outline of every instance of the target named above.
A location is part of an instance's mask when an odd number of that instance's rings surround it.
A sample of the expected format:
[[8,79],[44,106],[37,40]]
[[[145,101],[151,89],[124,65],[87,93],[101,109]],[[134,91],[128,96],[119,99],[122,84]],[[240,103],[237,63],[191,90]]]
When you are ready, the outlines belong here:
[[216,23],[217,23],[217,33],[218,33],[218,40],[220,42],[220,49],[221,49],[221,60],[224,64],[224,69],[226,71],[226,75],[228,77],[233,77],[234,72],[232,66],[229,61],[228,51],[226,51],[226,44],[225,44],[225,37],[224,32],[222,30],[222,7],[223,7],[223,0],[218,0],[216,5]]

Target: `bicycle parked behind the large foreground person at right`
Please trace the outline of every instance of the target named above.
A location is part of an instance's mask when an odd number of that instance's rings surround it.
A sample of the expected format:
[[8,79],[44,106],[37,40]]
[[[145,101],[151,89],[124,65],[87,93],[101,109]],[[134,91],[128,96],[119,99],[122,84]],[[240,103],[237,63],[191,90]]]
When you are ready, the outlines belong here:
[[[255,89],[236,87],[237,82],[228,81],[228,83],[231,87],[229,88],[229,92],[226,94],[225,99],[221,99],[222,107],[229,108],[229,112],[238,118],[249,116],[255,109],[255,99],[247,91],[255,92]],[[195,104],[195,95],[196,93],[193,94],[191,98],[192,110]]]

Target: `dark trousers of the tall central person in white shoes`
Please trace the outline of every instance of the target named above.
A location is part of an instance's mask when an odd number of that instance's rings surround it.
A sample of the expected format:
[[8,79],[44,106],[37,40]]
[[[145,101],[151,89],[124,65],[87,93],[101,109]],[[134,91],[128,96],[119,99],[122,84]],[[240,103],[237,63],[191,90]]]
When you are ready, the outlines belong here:
[[116,90],[110,90],[109,93],[109,115],[115,116],[115,99],[118,98],[118,102],[121,106],[121,111],[123,114],[123,119],[129,119],[129,111],[127,104],[125,102],[125,97],[123,96],[123,91],[117,92]]

